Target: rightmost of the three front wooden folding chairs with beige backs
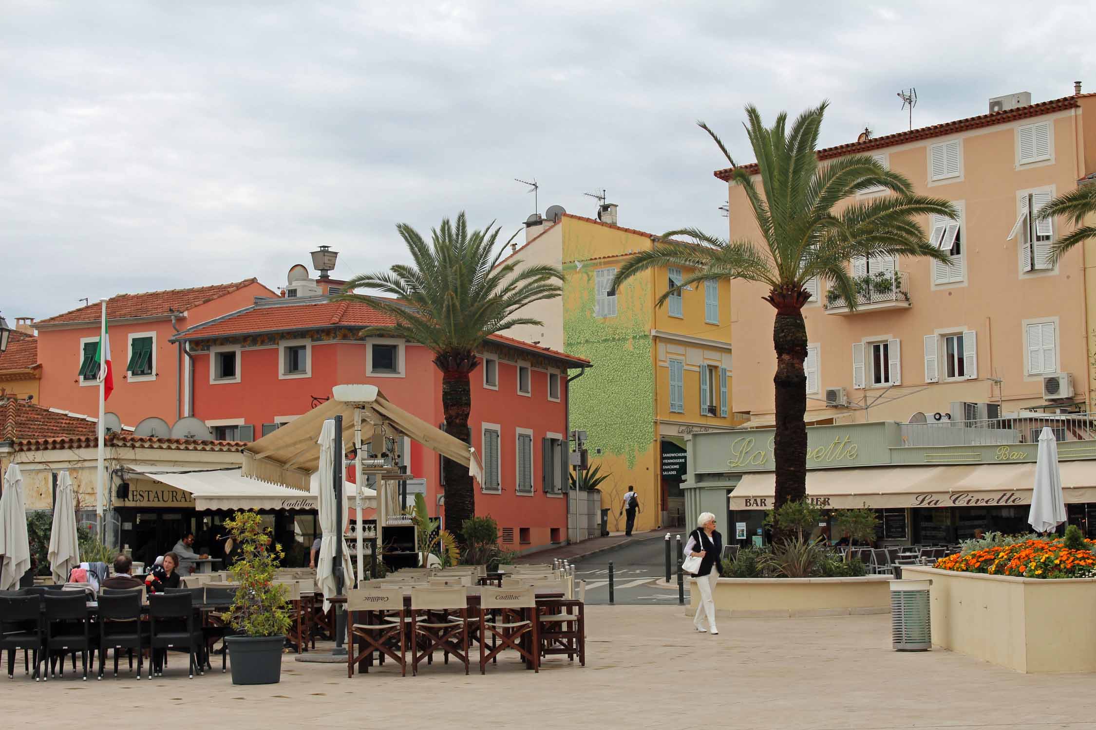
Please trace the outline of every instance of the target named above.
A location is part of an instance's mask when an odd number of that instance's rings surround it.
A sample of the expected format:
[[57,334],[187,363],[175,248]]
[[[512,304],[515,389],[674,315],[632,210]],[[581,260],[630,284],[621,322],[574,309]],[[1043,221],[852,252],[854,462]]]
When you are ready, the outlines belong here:
[[[537,638],[537,596],[532,588],[484,588],[480,592],[480,674],[499,652],[513,649],[526,667],[540,671]],[[487,638],[491,637],[491,649]],[[501,641],[502,644],[498,644]]]

